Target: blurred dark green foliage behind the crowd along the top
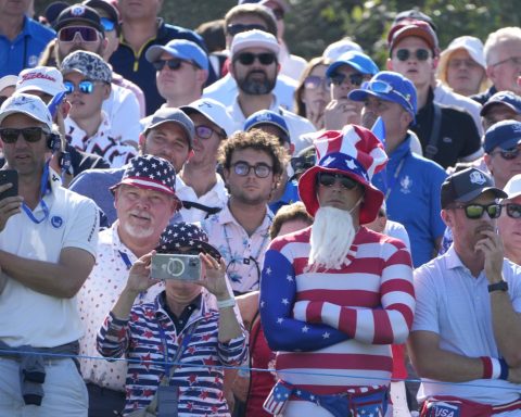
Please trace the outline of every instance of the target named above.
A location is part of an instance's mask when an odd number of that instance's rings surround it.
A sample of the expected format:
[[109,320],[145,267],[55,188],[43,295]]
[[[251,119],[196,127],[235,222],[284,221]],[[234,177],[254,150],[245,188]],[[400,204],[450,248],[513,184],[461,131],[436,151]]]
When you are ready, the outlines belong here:
[[[320,55],[329,43],[350,36],[383,64],[385,34],[394,16],[398,11],[412,8],[433,17],[442,49],[457,36],[473,35],[484,41],[488,33],[499,27],[521,24],[519,0],[287,1],[292,7],[285,18],[287,42],[293,53],[306,59]],[[52,0],[36,0],[37,15]],[[195,28],[203,22],[221,18],[236,4],[233,0],[164,0],[162,15],[168,23]]]

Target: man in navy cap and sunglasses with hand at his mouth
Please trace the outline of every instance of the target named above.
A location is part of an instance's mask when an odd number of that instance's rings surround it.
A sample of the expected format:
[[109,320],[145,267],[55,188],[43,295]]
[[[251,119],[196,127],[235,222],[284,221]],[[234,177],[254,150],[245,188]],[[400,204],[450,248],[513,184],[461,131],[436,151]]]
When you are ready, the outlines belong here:
[[448,251],[415,270],[409,354],[422,416],[511,415],[521,409],[521,269],[505,258],[496,222],[507,197],[476,168],[442,185]]

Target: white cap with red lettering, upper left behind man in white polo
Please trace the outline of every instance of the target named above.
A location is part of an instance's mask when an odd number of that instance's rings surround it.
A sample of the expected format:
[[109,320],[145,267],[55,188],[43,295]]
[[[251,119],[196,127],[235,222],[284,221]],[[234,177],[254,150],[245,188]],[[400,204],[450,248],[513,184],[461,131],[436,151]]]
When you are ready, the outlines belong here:
[[41,91],[52,97],[65,91],[63,76],[52,66],[35,66],[18,74],[16,92]]

